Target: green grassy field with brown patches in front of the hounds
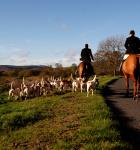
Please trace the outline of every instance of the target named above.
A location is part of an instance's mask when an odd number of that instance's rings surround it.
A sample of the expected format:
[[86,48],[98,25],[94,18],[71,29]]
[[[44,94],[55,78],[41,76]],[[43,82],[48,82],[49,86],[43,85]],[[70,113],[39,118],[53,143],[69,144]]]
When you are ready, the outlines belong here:
[[131,149],[121,139],[102,88],[115,77],[99,78],[93,96],[67,92],[24,101],[0,99],[0,150]]

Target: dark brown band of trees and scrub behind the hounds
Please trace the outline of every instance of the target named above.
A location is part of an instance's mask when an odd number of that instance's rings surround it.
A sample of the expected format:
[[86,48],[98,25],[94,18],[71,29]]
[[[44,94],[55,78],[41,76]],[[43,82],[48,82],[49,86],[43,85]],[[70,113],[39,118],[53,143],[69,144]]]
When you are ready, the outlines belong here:
[[44,66],[41,69],[27,69],[26,67],[24,69],[12,69],[12,70],[5,70],[0,71],[1,77],[16,77],[16,78],[23,78],[23,77],[62,77],[67,78],[74,75],[77,69],[77,65],[72,65],[71,67],[57,67],[53,68],[52,66]]

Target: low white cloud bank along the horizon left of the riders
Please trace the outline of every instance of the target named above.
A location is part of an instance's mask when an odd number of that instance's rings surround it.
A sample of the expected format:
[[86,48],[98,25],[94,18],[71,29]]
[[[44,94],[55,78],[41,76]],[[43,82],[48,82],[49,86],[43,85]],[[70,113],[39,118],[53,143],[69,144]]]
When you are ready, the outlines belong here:
[[39,56],[39,58],[34,58],[29,50],[13,48],[7,55],[0,57],[0,64],[3,65],[52,65],[55,66],[56,63],[61,63],[62,66],[71,66],[73,63],[79,63],[79,54],[76,53],[74,49],[68,50],[64,56],[57,57],[47,57]]

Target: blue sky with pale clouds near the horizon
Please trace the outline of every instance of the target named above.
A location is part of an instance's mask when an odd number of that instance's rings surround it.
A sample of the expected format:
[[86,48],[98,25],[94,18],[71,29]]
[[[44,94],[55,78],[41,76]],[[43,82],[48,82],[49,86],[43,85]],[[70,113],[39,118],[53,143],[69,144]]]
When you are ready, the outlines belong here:
[[79,63],[111,36],[140,37],[139,0],[0,0],[0,65]]

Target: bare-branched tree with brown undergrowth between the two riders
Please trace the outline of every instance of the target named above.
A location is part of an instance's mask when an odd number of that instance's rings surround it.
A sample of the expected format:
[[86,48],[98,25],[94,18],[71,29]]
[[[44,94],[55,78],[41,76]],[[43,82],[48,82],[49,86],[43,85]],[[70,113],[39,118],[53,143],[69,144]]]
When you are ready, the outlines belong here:
[[124,37],[110,37],[101,41],[94,55],[97,72],[116,75],[124,50]]

